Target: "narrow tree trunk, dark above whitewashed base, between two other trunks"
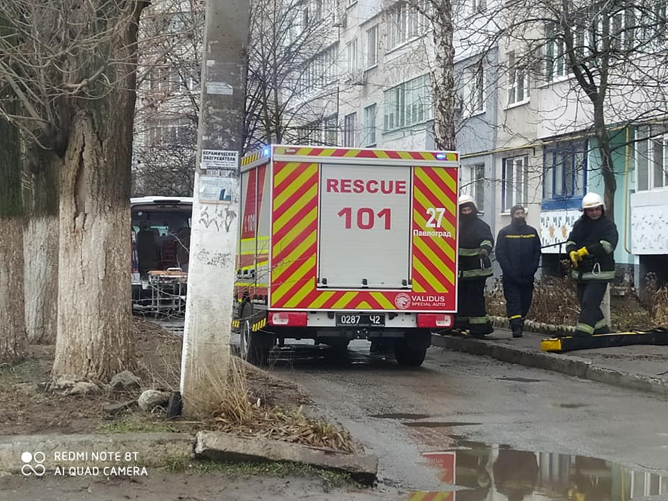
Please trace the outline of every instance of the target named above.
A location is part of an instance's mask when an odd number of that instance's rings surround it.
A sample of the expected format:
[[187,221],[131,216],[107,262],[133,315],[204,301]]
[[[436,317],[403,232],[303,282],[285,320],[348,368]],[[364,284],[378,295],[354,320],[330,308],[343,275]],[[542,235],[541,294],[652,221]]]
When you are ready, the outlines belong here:
[[24,191],[28,223],[24,228],[24,289],[28,341],[56,342],[58,312],[58,194],[56,155],[35,145],[27,172],[31,184]]

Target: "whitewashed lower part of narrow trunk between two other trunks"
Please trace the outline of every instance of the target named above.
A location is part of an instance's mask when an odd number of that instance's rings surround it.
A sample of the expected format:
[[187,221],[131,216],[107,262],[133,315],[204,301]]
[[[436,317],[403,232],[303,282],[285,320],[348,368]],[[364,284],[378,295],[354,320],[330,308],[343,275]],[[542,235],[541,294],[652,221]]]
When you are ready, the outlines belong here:
[[28,341],[54,344],[58,312],[58,216],[29,218],[23,241]]

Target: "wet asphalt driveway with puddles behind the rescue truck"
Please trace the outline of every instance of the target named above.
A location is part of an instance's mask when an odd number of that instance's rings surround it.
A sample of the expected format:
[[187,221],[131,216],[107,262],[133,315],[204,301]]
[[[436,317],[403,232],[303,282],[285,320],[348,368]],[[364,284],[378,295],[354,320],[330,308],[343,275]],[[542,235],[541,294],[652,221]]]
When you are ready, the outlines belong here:
[[553,499],[582,491],[581,477],[598,488],[587,501],[668,491],[668,406],[657,395],[434,347],[423,367],[402,369],[361,341],[343,357],[285,349],[271,371],[307,388],[378,455],[388,486],[434,493],[456,482],[477,489],[472,499],[498,500],[507,489],[493,477],[537,469],[536,489]]

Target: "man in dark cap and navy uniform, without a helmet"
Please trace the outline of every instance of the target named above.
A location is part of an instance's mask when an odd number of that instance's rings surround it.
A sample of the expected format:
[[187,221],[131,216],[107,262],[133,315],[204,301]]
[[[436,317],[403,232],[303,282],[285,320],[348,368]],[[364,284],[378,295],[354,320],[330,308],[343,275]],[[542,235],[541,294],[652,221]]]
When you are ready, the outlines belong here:
[[541,261],[541,239],[527,225],[522,205],[510,209],[512,221],[496,238],[496,260],[503,271],[503,295],[513,337],[522,337],[534,294],[534,275]]

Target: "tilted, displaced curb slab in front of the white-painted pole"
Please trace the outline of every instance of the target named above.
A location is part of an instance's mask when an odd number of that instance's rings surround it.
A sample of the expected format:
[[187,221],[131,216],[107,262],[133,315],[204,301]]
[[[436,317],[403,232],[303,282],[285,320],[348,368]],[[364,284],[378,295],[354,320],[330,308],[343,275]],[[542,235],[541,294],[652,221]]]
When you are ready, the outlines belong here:
[[244,438],[221,431],[199,431],[195,454],[198,457],[223,461],[292,461],[317,468],[348,472],[365,485],[372,485],[378,472],[378,458],[320,450],[305,445],[269,440]]

